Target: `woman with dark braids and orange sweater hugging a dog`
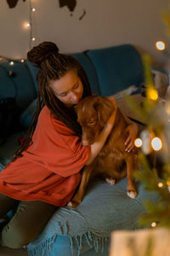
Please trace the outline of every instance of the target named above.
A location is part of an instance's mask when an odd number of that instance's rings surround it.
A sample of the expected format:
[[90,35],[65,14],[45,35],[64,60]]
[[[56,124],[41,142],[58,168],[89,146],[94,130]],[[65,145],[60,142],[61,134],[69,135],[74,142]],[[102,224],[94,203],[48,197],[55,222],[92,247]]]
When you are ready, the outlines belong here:
[[[83,146],[74,106],[91,90],[82,66],[50,42],[31,49],[27,58],[39,67],[37,108],[24,143],[0,173],[0,218],[18,206],[1,232],[1,244],[12,248],[33,241],[56,208],[71,200],[83,166],[99,154],[114,122],[111,116],[97,142]],[[137,130],[128,126],[127,150]]]

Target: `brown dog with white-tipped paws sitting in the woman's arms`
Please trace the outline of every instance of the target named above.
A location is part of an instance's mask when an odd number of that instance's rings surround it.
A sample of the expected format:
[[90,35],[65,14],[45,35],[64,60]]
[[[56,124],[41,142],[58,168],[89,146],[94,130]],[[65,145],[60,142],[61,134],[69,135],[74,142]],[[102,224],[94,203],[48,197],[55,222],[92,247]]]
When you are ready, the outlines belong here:
[[137,192],[133,171],[137,167],[137,148],[133,148],[130,153],[125,151],[127,121],[116,108],[116,102],[103,96],[88,96],[77,104],[76,111],[77,121],[82,125],[83,145],[93,144],[111,113],[115,111],[116,114],[113,128],[104,147],[94,161],[83,169],[80,186],[68,206],[77,207],[80,204],[89,179],[96,176],[104,178],[111,184],[127,176],[127,195],[135,198]]

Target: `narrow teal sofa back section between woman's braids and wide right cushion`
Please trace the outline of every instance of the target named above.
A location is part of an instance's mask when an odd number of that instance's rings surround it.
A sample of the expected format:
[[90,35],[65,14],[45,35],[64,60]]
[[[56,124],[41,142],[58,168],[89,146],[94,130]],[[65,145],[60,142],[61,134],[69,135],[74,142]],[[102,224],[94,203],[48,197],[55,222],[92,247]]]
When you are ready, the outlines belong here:
[[82,64],[82,67],[84,68],[85,72],[87,73],[88,81],[90,83],[92,92],[94,92],[97,95],[101,95],[101,91],[99,90],[99,81],[97,78],[97,73],[94,68],[94,65],[89,60],[88,56],[85,55],[84,53],[75,53],[72,55],[75,56],[77,61],[79,61]]

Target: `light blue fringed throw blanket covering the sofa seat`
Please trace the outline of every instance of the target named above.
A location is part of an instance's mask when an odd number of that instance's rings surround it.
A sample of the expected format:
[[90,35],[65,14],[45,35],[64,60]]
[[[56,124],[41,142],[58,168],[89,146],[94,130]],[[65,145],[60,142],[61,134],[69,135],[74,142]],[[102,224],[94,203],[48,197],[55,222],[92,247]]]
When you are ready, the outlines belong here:
[[[127,196],[127,178],[115,185],[102,180],[90,183],[86,196],[77,208],[58,208],[42,234],[28,245],[29,255],[56,255],[51,253],[51,247],[58,236],[70,237],[71,247],[77,251],[74,256],[84,252],[87,244],[88,249],[95,247],[102,251],[109,246],[112,230],[139,227],[138,218],[145,212],[144,200],[157,200],[157,195],[145,191],[141,184],[138,190],[136,199]],[[56,240],[55,247],[57,246]]]

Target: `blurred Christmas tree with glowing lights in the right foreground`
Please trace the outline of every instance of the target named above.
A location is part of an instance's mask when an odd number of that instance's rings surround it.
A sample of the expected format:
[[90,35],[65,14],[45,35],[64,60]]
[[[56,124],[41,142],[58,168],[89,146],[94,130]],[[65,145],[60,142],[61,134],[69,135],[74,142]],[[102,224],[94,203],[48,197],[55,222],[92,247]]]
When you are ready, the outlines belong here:
[[[170,35],[170,15],[164,13],[163,19]],[[156,47],[165,49],[165,44],[159,42]],[[164,226],[170,229],[170,96],[159,96],[150,71],[150,57],[144,55],[145,97],[142,105],[131,96],[126,96],[133,111],[145,124],[135,142],[141,146],[141,168],[136,172],[136,177],[144,183],[144,189],[157,193],[159,197],[156,204],[145,202],[146,213],[139,223],[147,227]]]

